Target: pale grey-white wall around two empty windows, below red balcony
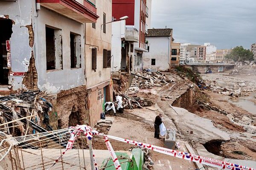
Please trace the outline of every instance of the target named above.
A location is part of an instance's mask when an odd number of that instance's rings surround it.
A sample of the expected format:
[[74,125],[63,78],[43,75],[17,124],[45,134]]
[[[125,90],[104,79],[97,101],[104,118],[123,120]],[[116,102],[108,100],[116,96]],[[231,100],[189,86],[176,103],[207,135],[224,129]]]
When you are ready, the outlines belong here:
[[[38,73],[38,88],[51,93],[68,90],[85,84],[84,45],[81,45],[81,68],[70,68],[70,32],[81,35],[84,44],[84,27],[81,23],[41,8],[35,19],[35,65]],[[63,69],[46,70],[45,26],[61,29]]]

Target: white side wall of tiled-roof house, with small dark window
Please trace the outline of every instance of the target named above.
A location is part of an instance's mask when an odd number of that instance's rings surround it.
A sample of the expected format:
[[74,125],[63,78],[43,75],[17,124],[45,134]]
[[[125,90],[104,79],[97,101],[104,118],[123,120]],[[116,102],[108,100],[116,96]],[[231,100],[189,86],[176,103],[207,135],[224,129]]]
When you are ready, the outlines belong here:
[[[145,52],[143,68],[157,68],[159,71],[169,69],[169,37],[147,37],[149,52]],[[151,65],[151,59],[156,59],[156,65]]]

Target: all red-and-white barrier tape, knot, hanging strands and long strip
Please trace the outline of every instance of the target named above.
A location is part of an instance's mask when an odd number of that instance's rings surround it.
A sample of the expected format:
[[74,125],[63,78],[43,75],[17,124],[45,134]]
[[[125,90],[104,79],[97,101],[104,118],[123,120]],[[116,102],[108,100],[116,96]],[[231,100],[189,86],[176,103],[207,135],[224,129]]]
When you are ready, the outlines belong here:
[[[92,130],[91,127],[86,126],[86,125],[77,125],[76,127],[71,127],[71,128],[73,128],[74,130],[70,131],[70,134],[71,134],[70,140],[67,143],[66,149],[64,150],[64,152],[62,152],[62,155],[64,155],[67,150],[72,149],[73,143],[80,136],[81,132],[83,132],[84,135],[89,140],[92,139],[93,135],[103,135],[103,134],[98,133],[96,130]],[[125,142],[125,143],[128,143],[128,144],[134,144],[136,146],[144,147],[144,148],[154,150],[154,151],[159,152],[159,153],[163,153],[163,154],[166,154],[166,155],[169,155],[169,156],[174,156],[176,158],[184,159],[184,160],[187,160],[187,161],[193,161],[193,162],[205,164],[205,165],[208,165],[208,166],[211,166],[211,167],[221,168],[222,170],[256,170],[255,168],[251,168],[251,167],[245,167],[245,166],[242,166],[242,165],[233,164],[233,163],[229,163],[229,162],[226,162],[226,161],[220,161],[220,160],[217,160],[217,159],[207,158],[207,157],[204,157],[204,156],[198,156],[198,155],[195,155],[195,154],[180,152],[180,151],[177,151],[177,150],[172,150],[172,149],[167,149],[167,148],[164,148],[164,147],[159,147],[159,146],[155,146],[155,145],[151,145],[151,144],[132,141],[132,140],[129,140],[129,139],[123,139],[123,138],[119,138],[119,137],[116,137],[116,136],[110,136],[110,135],[103,135],[103,136],[104,136],[104,139],[105,139],[106,146],[107,146],[107,148],[108,148],[108,150],[111,154],[111,158],[113,159],[116,170],[122,170],[122,168],[120,166],[120,163],[119,163],[119,161],[116,157],[116,154],[115,154],[115,152],[113,150],[113,147],[111,146],[111,143],[109,142],[108,138],[114,139],[114,140],[117,140],[117,141],[120,141],[120,142]],[[62,158],[62,156],[58,157],[58,159],[61,159],[61,158]],[[51,167],[53,167],[58,162],[58,159],[55,160],[54,164],[52,164]],[[95,159],[94,155],[93,155],[93,163],[95,165],[95,170],[98,170],[96,159]],[[49,170],[51,167],[49,167],[47,170]]]

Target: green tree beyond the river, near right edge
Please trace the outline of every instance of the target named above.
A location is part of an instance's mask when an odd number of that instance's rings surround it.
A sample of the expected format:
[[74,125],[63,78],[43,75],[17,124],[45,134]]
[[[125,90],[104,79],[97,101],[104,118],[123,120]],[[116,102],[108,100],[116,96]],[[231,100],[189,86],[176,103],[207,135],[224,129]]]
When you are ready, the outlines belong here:
[[232,59],[235,62],[253,61],[253,52],[244,49],[243,46],[237,46],[230,54],[227,54],[225,58]]

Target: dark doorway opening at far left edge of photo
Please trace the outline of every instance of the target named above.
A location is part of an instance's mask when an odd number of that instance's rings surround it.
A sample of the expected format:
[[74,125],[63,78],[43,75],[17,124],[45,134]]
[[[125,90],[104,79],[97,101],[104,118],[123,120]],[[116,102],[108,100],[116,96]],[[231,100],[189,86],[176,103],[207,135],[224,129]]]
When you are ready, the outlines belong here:
[[12,35],[12,20],[0,18],[0,85],[9,84],[6,41]]

